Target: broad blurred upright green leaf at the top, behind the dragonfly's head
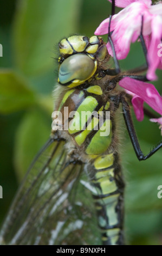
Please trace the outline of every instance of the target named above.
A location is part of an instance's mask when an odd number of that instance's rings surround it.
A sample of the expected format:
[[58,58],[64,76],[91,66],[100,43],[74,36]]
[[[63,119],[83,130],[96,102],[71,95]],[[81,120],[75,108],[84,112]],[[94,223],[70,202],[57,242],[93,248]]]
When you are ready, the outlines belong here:
[[76,33],[81,0],[21,0],[14,25],[16,65],[34,75],[53,66],[53,48]]

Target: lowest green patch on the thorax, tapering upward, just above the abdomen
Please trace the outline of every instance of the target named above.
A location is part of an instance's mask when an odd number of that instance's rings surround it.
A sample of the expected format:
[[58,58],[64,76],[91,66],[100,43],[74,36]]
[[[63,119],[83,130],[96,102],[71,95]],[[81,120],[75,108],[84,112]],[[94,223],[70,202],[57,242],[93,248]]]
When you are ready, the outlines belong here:
[[[105,131],[103,131],[103,126],[105,127]],[[110,132],[108,135],[104,136],[102,132],[106,132],[106,129],[108,129],[108,127],[110,128]],[[93,136],[92,140],[90,141],[86,149],[86,153],[88,155],[102,154],[108,149],[111,142],[112,142],[112,123],[111,123],[111,120],[106,119],[103,125],[101,126],[100,130],[96,132],[96,134]]]

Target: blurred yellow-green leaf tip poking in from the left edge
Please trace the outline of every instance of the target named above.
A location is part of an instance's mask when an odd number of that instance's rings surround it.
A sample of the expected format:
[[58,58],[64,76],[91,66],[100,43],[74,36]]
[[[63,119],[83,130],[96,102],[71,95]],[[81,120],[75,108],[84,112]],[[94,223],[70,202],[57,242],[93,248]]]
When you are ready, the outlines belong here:
[[12,113],[35,103],[32,92],[25,81],[10,70],[0,71],[0,112]]

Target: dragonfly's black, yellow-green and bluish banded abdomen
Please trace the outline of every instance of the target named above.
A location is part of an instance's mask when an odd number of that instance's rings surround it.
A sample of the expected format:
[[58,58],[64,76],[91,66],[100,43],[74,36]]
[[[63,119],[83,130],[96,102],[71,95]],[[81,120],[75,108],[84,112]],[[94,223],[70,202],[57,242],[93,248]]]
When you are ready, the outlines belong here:
[[[92,167],[91,167],[92,168]],[[123,245],[124,181],[118,155],[101,155],[94,161],[92,184],[103,245]]]

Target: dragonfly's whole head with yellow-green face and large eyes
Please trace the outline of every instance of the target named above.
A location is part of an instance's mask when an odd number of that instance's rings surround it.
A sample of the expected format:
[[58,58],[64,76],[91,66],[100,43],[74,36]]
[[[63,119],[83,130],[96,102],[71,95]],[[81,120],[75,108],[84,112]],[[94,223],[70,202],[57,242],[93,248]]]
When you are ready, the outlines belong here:
[[63,86],[76,87],[89,81],[99,62],[107,57],[107,48],[101,37],[73,35],[59,43],[59,78]]

